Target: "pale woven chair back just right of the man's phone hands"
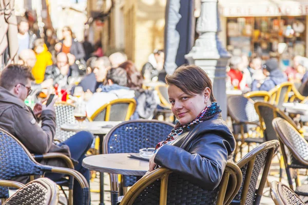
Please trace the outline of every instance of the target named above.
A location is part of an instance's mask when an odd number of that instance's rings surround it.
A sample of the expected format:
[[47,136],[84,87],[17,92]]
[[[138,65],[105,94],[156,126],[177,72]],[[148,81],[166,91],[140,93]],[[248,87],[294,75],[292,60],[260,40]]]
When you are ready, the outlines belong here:
[[75,109],[74,105],[65,102],[54,104],[55,117],[56,117],[55,118],[56,128],[54,136],[55,139],[65,141],[66,139],[75,134],[75,132],[68,132],[61,130],[61,126],[63,124],[68,124],[68,123],[71,124],[77,122],[74,117],[74,109]]

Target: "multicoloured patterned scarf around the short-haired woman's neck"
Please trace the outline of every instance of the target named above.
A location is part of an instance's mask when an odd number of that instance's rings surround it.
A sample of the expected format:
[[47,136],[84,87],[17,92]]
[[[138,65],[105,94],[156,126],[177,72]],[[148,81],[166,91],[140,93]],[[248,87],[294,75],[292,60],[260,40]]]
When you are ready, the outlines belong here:
[[161,148],[163,145],[170,144],[172,140],[176,139],[179,135],[181,135],[184,131],[184,128],[194,127],[198,125],[200,122],[203,122],[205,120],[208,120],[214,117],[218,113],[221,113],[221,110],[219,109],[219,106],[217,105],[217,103],[213,103],[212,105],[205,107],[205,109],[202,110],[202,112],[194,120],[192,120],[189,124],[182,126],[180,122],[178,122],[175,128],[172,129],[172,131],[168,135],[167,139],[157,144],[155,148],[155,152],[157,152],[158,149]]

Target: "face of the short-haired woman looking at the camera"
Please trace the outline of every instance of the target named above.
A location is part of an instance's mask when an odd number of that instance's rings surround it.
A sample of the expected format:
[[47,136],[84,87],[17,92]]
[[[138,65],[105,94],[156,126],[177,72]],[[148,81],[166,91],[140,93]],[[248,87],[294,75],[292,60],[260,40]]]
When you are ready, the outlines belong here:
[[169,101],[172,113],[186,125],[194,120],[207,105],[210,105],[210,89],[206,88],[202,94],[187,95],[180,88],[170,84],[168,86]]

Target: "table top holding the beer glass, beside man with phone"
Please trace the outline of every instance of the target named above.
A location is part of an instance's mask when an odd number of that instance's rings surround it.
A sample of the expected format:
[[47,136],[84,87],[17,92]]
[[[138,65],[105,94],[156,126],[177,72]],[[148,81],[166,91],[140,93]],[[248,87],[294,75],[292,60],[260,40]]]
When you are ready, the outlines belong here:
[[62,130],[70,132],[89,131],[92,134],[107,134],[114,126],[117,126],[122,121],[91,121],[83,122],[80,128],[78,124],[64,124]]

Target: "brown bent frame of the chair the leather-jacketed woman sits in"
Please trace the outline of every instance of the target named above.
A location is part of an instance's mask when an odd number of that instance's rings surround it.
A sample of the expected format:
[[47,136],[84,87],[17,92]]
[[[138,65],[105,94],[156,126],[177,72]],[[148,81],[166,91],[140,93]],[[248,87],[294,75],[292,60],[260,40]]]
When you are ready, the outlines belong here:
[[[168,191],[168,175],[170,173],[172,173],[172,171],[165,168],[159,168],[150,172],[149,174],[144,175],[128,190],[120,204],[133,204],[134,200],[146,187],[148,187],[153,181],[161,179],[159,204],[166,205]],[[218,205],[229,204],[233,200],[233,198],[240,190],[242,178],[243,177],[240,168],[234,162],[228,161],[220,182],[220,190],[217,199]],[[228,187],[229,182],[231,182],[233,186]]]

